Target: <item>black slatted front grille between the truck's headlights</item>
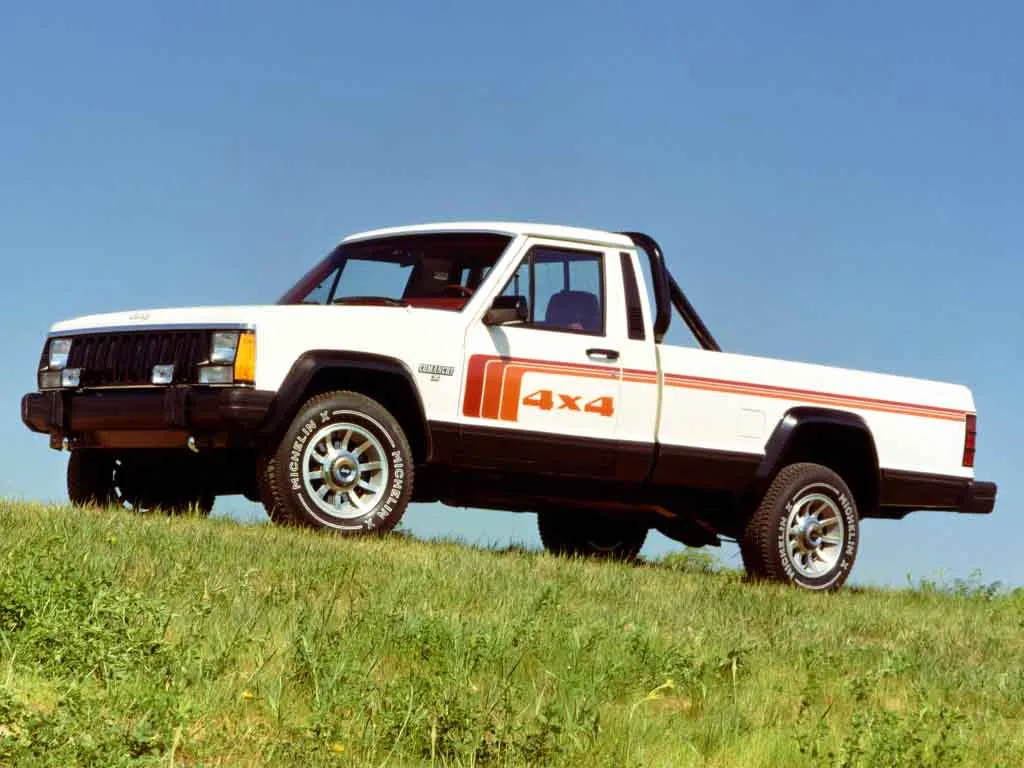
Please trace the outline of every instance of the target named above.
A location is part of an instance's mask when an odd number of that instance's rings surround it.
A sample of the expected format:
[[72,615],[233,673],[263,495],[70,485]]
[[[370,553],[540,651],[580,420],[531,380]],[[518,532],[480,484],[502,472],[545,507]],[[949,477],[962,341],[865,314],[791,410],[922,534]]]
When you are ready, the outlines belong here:
[[210,352],[211,331],[133,331],[73,336],[68,368],[82,370],[83,387],[150,384],[154,366],[174,365],[174,382],[197,381]]

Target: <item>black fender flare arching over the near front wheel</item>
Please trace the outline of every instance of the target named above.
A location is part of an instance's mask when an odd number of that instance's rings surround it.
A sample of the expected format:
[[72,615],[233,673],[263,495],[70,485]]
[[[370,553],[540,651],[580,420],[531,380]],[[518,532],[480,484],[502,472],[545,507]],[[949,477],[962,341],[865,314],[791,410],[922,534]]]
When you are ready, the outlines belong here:
[[427,423],[420,388],[416,386],[412,372],[404,362],[396,357],[370,352],[311,349],[299,355],[278,388],[278,395],[274,397],[270,412],[260,430],[262,438],[276,439],[285,433],[295,417],[295,413],[302,406],[304,394],[309,385],[316,375],[324,371],[368,371],[390,374],[404,379],[409,388],[416,395],[416,413],[419,416],[426,440],[426,456],[430,456],[430,425]]

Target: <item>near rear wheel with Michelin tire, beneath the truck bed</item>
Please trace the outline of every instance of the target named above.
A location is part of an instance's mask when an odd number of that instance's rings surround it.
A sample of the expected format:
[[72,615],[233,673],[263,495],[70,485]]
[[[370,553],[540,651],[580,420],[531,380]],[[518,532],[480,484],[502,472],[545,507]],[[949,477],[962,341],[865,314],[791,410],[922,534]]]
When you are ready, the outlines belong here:
[[820,464],[784,467],[768,486],[740,542],[748,573],[807,590],[839,589],[860,540],[846,482]]

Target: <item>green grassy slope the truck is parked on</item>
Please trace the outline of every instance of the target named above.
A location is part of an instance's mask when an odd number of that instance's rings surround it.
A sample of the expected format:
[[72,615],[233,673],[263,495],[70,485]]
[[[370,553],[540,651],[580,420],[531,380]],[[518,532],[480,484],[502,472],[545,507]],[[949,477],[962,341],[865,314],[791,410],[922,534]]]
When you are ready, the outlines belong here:
[[2,765],[1024,764],[1021,593],[5,502],[0,530]]

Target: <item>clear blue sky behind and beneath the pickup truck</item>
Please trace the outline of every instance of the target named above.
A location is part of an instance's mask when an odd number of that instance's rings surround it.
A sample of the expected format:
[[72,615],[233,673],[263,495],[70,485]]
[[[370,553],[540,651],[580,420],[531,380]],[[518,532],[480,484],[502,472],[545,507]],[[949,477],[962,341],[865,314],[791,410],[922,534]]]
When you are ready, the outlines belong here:
[[[730,350],[972,386],[995,514],[869,521],[854,581],[1024,585],[1022,36],[1011,2],[9,5],[0,495],[65,498],[18,417],[50,323],[273,301],[346,232],[527,219],[649,231]],[[538,544],[531,515],[407,521]]]

